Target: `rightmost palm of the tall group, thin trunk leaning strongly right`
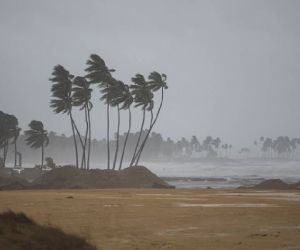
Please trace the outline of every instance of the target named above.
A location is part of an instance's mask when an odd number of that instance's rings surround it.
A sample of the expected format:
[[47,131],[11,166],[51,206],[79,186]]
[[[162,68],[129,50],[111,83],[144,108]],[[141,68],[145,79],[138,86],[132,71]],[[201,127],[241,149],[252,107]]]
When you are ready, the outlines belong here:
[[153,71],[152,73],[150,73],[149,75],[149,88],[152,92],[156,92],[158,90],[161,90],[161,100],[160,100],[160,105],[158,107],[158,110],[157,110],[157,113],[156,113],[156,116],[155,116],[155,119],[153,120],[153,113],[152,113],[152,109],[151,109],[151,122],[150,122],[150,128],[146,134],[146,137],[138,151],[138,156],[137,156],[137,159],[136,159],[136,165],[138,165],[139,163],[139,160],[140,160],[140,157],[141,157],[141,154],[143,152],[143,149],[145,147],[145,144],[147,142],[147,139],[149,138],[149,135],[151,133],[151,130],[154,126],[154,124],[156,123],[157,121],[157,118],[159,116],[159,113],[161,111],[161,107],[162,107],[162,104],[163,104],[163,101],[164,101],[164,89],[167,89],[168,86],[167,86],[167,76],[165,74],[160,74],[156,71]]

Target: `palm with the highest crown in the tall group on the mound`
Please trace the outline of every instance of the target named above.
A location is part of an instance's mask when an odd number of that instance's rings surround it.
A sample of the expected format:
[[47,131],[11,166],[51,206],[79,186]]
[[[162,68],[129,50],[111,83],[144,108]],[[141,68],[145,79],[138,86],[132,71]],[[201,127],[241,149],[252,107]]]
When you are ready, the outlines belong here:
[[[109,69],[104,60],[96,55],[92,54],[87,61],[88,67],[85,69],[87,72],[86,78],[91,84],[98,84],[100,89],[109,87],[109,79],[111,78],[111,72],[114,69]],[[109,96],[107,97],[109,98]],[[109,99],[106,100],[106,117],[107,117],[107,169],[110,169],[110,147],[109,147]]]

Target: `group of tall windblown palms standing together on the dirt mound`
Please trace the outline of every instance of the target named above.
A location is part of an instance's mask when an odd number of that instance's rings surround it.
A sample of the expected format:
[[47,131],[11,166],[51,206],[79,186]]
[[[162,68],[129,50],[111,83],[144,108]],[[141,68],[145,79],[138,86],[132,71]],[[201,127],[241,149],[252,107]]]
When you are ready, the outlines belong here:
[[[147,139],[155,125],[164,100],[164,89],[167,89],[167,77],[165,74],[160,74],[156,71],[149,74],[146,79],[141,74],[136,74],[131,80],[132,83],[127,85],[120,80],[115,79],[112,73],[114,69],[110,69],[105,64],[104,60],[92,54],[87,60],[87,67],[85,69],[85,76],[77,76],[70,74],[63,66],[57,65],[53,69],[53,82],[51,92],[52,100],[50,106],[55,113],[64,113],[69,116],[71,128],[73,132],[73,141],[76,156],[76,167],[89,169],[90,168],[90,152],[91,152],[91,119],[90,112],[93,108],[91,102],[92,85],[97,85],[101,93],[101,101],[106,105],[106,123],[107,123],[107,169],[117,169],[117,159],[119,154],[119,137],[120,137],[120,112],[128,112],[128,131],[125,141],[122,146],[121,156],[119,160],[118,169],[122,168],[124,153],[126,150],[128,135],[131,130],[132,118],[131,107],[141,107],[142,122],[139,132],[139,137],[133,152],[130,166],[137,166],[146,145]],[[161,101],[154,115],[154,93],[161,91]],[[84,111],[85,131],[81,134],[76,122],[73,118],[73,108],[79,107]],[[118,113],[118,124],[116,132],[116,147],[111,164],[111,150],[110,150],[110,108],[115,108]],[[142,133],[145,127],[146,114],[150,113],[150,124],[146,136],[142,138]],[[79,139],[77,139],[79,138]],[[79,140],[79,141],[78,141]],[[80,149],[78,148],[80,146]],[[79,151],[82,152],[81,162],[79,165]]]

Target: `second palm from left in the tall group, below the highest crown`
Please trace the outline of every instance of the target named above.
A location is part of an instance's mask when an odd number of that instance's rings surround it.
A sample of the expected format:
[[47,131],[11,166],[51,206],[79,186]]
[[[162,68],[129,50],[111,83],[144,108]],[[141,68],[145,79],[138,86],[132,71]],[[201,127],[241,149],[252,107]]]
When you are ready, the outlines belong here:
[[[90,83],[81,76],[77,76],[73,81],[74,87],[72,88],[72,99],[74,106],[80,106],[80,110],[84,110],[85,113],[85,140],[82,148],[82,161],[81,168],[90,167],[90,151],[91,151],[91,118],[90,111],[93,108],[91,102],[92,89],[90,88]],[[89,138],[89,139],[87,139]],[[87,144],[88,143],[88,144]],[[86,149],[86,147],[88,148]],[[87,158],[86,158],[87,150]]]

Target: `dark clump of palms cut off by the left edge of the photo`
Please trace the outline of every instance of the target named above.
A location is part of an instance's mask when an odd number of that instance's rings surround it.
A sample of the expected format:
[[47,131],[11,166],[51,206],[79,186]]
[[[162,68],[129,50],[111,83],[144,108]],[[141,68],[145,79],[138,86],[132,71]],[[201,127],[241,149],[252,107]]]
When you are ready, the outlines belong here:
[[10,144],[14,144],[14,165],[17,165],[17,140],[21,131],[18,124],[18,119],[14,115],[6,114],[0,111],[0,149],[3,150],[3,157],[1,157],[0,167],[5,167]]

